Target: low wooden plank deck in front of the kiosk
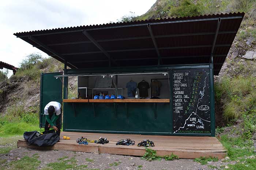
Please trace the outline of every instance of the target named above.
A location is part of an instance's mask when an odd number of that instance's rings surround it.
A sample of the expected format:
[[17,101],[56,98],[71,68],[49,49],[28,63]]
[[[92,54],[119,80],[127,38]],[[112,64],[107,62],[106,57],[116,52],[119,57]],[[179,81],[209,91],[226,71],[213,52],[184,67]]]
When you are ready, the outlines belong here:
[[[70,140],[63,140],[63,136],[69,136]],[[76,139],[84,136],[87,139],[95,140],[99,137],[107,138],[108,144],[89,143],[88,145],[79,145]],[[200,156],[215,156],[222,159],[226,156],[226,150],[216,137],[195,137],[195,136],[157,136],[157,135],[123,135],[106,133],[79,133],[79,132],[61,132],[60,141],[51,147],[29,146],[24,139],[18,140],[18,147],[29,147],[35,149],[47,150],[66,150],[78,152],[96,152],[107,154],[120,154],[143,156],[144,147],[138,147],[137,144],[143,139],[154,141],[157,155],[175,154],[179,158],[199,158]],[[135,141],[134,146],[117,146],[116,142],[120,139],[129,138]]]

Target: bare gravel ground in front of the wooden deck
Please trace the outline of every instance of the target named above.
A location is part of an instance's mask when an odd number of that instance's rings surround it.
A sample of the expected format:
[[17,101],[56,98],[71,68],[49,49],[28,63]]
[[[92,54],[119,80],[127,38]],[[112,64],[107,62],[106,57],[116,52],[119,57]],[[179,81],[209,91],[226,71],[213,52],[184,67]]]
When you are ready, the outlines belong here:
[[[38,169],[46,167],[50,162],[58,162],[58,158],[68,156],[68,158],[75,157],[78,165],[88,165],[90,169],[105,170],[111,168],[112,170],[209,170],[212,166],[225,166],[227,163],[208,162],[207,165],[201,165],[194,162],[193,159],[178,159],[172,161],[154,160],[146,161],[135,156],[112,155],[112,154],[98,154],[85,152],[71,152],[71,151],[57,151],[57,150],[34,150],[30,148],[15,148],[9,154],[0,154],[0,159],[6,159],[7,162],[12,160],[19,160],[23,156],[32,156],[38,154],[41,165]],[[86,158],[93,159],[93,162],[87,162]],[[117,166],[110,166],[113,162],[120,162]],[[141,167],[142,165],[142,167]],[[138,167],[140,166],[140,168]],[[213,168],[214,169],[214,168]]]

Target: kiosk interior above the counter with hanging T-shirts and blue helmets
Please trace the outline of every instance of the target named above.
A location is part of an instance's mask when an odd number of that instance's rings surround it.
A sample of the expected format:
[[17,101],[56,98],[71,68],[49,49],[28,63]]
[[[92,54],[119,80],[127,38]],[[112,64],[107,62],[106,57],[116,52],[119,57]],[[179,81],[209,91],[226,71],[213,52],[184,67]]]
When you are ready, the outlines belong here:
[[[136,93],[137,92],[137,93]],[[168,73],[78,76],[78,99],[169,99]],[[112,97],[112,98],[111,98]],[[98,99],[98,98],[97,98]],[[106,99],[109,99],[108,97]]]

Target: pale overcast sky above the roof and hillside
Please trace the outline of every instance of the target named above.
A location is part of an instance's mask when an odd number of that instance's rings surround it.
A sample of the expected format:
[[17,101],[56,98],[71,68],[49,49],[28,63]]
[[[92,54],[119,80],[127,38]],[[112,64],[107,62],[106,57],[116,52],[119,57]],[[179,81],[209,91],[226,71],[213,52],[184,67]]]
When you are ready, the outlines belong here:
[[22,31],[116,22],[129,11],[147,12],[156,0],[5,0],[0,5],[0,61],[19,67],[37,48],[16,38]]

